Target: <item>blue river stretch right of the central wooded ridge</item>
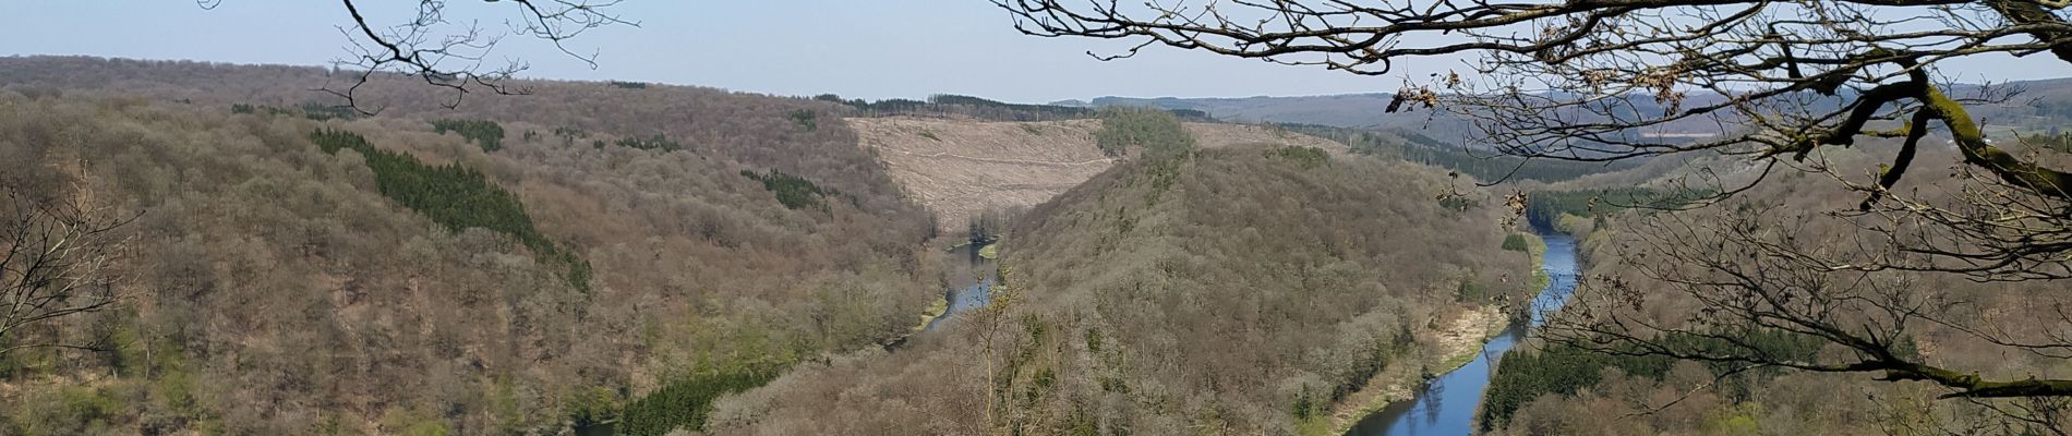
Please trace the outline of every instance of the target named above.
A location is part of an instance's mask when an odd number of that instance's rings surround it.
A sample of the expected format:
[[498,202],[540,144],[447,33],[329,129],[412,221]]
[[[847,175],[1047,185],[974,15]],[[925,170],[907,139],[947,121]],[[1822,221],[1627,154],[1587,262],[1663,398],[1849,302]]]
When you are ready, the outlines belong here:
[[1564,233],[1539,236],[1548,244],[1539,269],[1548,275],[1548,287],[1533,298],[1529,320],[1513,322],[1502,335],[1490,339],[1473,362],[1426,382],[1411,401],[1388,407],[1359,419],[1351,436],[1452,436],[1475,432],[1475,405],[1496,376],[1496,362],[1525,335],[1544,322],[1542,314],[1560,310],[1575,291],[1577,248],[1575,238]]

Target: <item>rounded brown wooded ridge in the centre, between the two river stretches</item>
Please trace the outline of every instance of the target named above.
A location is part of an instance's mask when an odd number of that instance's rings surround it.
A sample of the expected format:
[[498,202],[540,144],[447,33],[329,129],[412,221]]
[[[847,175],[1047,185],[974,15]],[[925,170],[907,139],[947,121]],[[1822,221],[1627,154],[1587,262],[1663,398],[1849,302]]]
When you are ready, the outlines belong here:
[[992,308],[798,366],[707,428],[1328,432],[1341,399],[1407,395],[1452,357],[1442,329],[1529,289],[1500,207],[1440,192],[1436,172],[1320,149],[1133,159],[1017,221]]

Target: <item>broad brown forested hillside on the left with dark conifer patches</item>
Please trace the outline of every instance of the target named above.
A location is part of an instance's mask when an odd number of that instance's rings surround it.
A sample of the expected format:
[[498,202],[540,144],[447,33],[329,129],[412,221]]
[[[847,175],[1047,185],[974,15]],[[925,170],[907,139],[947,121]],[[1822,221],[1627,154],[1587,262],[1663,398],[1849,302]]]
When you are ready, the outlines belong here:
[[8,333],[99,351],[0,355],[0,434],[659,434],[934,295],[926,213],[798,116],[839,105],[375,83],[346,116],[321,74],[0,60],[8,188],[137,217],[122,310]]

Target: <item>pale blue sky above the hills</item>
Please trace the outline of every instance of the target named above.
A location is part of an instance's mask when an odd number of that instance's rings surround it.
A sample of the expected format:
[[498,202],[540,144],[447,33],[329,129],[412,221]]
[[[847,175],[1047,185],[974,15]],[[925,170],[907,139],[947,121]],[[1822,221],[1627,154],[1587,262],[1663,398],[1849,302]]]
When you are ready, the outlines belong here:
[[[0,14],[0,56],[85,54],[317,66],[346,54],[346,39],[334,29],[346,23],[346,12],[332,0],[224,0],[215,10],[203,10],[193,0],[6,4],[8,12]],[[472,0],[454,4],[485,6]],[[870,99],[930,93],[1007,101],[1324,95],[1386,93],[1401,85],[1392,76],[1353,76],[1160,48],[1131,60],[1098,62],[1086,52],[1115,52],[1123,45],[1028,37],[1015,33],[1007,14],[986,0],[628,0],[617,10],[642,27],[603,29],[570,43],[578,52],[599,54],[595,70],[537,41],[512,39],[497,54],[528,60],[528,76]],[[495,29],[506,10],[493,12],[483,25]],[[1446,68],[1459,64],[1417,60],[1403,72]],[[2072,76],[2072,66],[1999,58],[1966,60],[1946,66],[1946,72],[1960,81],[2051,79]]]

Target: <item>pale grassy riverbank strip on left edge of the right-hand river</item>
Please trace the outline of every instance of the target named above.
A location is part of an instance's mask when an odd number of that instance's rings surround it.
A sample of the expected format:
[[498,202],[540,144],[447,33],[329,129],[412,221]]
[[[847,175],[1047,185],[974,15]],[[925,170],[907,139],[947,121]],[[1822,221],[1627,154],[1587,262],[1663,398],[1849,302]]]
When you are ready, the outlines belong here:
[[[1498,304],[1463,310],[1446,329],[1438,331],[1438,345],[1434,353],[1426,353],[1426,362],[1397,362],[1382,368],[1374,378],[1368,378],[1365,388],[1347,395],[1345,401],[1332,405],[1328,426],[1301,426],[1301,434],[1345,434],[1351,432],[1359,419],[1382,411],[1397,401],[1409,401],[1417,395],[1417,386],[1432,376],[1446,374],[1467,366],[1481,353],[1481,347],[1490,343],[1496,335],[1504,333],[1510,318],[1504,316],[1504,308]],[[1430,360],[1430,357],[1436,357]]]

